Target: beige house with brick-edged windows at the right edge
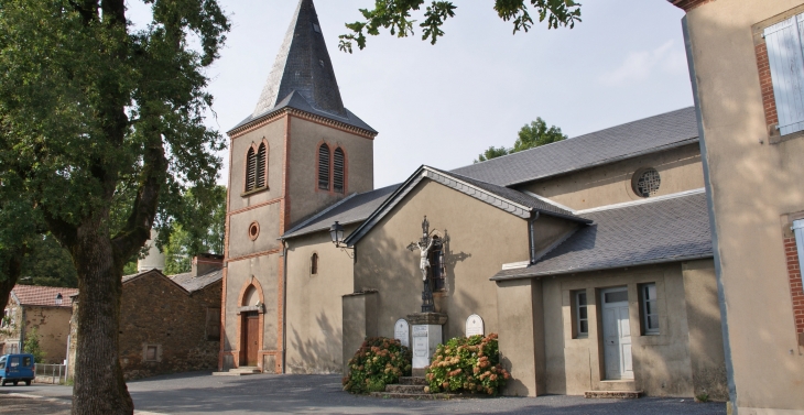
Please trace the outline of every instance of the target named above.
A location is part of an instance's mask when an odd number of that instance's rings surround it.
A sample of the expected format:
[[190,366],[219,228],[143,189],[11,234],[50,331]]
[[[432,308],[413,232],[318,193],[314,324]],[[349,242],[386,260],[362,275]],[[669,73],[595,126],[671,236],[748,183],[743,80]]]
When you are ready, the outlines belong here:
[[686,11],[735,414],[804,414],[804,1]]

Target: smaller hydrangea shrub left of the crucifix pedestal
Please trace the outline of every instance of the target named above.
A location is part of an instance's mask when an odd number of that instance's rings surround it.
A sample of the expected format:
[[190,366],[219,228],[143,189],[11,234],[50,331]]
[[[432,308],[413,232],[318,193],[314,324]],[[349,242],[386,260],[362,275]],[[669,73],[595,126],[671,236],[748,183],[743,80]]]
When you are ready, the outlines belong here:
[[400,376],[411,375],[412,359],[410,349],[396,339],[368,338],[349,360],[349,375],[343,379],[344,391],[382,392],[387,384],[399,383]]

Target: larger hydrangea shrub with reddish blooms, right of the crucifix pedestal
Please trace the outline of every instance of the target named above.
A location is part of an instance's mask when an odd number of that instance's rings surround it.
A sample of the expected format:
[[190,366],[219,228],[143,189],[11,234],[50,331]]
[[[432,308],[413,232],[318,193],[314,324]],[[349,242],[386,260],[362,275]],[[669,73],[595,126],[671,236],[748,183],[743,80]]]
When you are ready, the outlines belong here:
[[497,335],[456,337],[438,345],[427,367],[430,392],[497,395],[511,375],[500,365]]

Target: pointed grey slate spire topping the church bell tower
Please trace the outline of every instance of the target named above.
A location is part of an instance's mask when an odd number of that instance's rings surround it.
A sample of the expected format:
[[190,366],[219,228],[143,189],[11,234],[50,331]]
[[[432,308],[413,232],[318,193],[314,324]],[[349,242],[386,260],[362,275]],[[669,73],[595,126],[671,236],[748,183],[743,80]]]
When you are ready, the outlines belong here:
[[313,0],[301,0],[252,117],[261,116],[293,91],[313,108],[347,117]]

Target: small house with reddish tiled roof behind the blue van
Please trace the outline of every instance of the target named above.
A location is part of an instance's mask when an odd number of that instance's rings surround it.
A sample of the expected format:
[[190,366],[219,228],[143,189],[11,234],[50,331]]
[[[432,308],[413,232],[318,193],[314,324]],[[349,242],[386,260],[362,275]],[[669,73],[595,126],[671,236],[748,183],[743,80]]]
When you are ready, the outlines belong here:
[[43,363],[62,364],[67,357],[70,295],[76,288],[17,284],[0,323],[0,354],[19,353],[35,329],[45,352]]

